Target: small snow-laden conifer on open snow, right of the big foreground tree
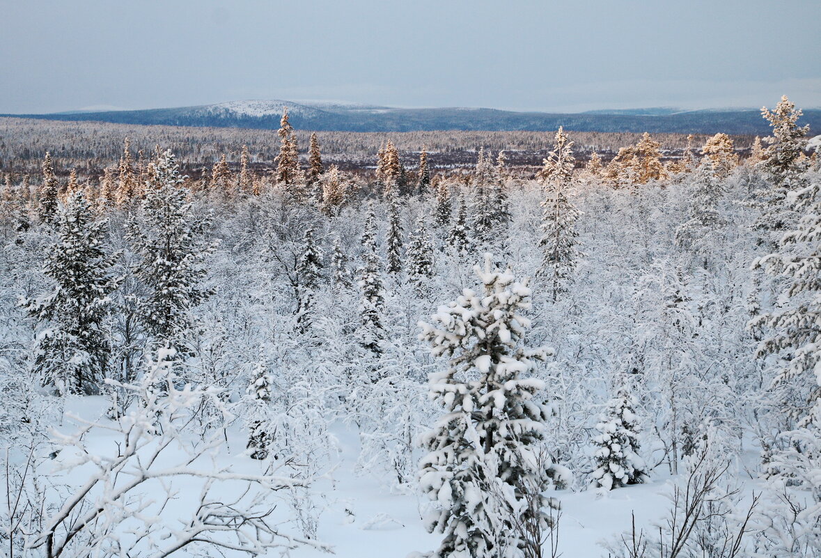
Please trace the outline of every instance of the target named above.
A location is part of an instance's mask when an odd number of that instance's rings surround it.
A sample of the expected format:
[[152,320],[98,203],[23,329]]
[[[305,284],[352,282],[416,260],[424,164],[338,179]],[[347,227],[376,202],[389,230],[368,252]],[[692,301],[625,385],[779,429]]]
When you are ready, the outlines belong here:
[[623,381],[599,417],[596,425],[599,434],[593,438],[593,443],[599,446],[593,455],[596,466],[593,482],[604,490],[638,484],[647,479],[647,466],[639,454],[636,405],[630,386]]

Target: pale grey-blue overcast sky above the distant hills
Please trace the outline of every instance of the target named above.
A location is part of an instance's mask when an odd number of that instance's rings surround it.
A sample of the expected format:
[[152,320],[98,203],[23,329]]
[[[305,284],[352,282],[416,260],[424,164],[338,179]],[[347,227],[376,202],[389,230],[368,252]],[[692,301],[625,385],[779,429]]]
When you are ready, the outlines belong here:
[[821,106],[819,0],[0,0],[0,113]]

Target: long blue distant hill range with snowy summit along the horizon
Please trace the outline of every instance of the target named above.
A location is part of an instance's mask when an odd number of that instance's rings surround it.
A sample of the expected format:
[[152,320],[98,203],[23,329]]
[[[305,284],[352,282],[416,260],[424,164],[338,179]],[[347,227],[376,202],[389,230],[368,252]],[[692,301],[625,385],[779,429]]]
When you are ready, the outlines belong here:
[[[564,114],[520,113],[493,108],[392,108],[333,102],[258,100],[198,107],[0,116],[275,130],[279,127],[282,108],[286,106],[294,127],[316,131],[549,131],[559,126],[573,131],[688,134],[723,131],[728,134],[767,135],[769,131],[759,111],[752,109],[678,111],[674,108],[646,108]],[[821,130],[821,109],[805,110],[800,122],[809,123],[813,131]]]

